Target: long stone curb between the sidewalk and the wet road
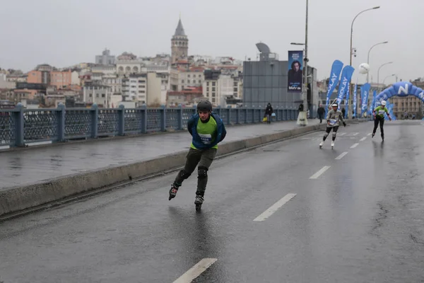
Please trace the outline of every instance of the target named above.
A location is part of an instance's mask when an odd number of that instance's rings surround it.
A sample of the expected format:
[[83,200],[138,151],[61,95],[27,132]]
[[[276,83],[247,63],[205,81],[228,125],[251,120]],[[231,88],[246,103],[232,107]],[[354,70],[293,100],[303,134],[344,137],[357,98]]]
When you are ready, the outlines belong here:
[[[298,127],[260,137],[231,141],[219,145],[217,157],[322,129],[325,129],[324,124]],[[187,151],[179,151],[175,154],[158,156],[158,158],[148,161],[100,168],[30,185],[8,187],[0,190],[0,216],[16,214],[26,209],[63,200],[66,197],[177,168],[184,165],[186,155]]]

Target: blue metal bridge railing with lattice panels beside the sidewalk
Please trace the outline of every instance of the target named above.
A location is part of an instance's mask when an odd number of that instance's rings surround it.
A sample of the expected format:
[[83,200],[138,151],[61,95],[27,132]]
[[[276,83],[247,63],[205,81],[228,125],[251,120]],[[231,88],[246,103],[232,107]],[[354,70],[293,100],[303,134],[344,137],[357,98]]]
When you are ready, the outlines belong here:
[[[262,122],[264,109],[215,108],[225,125]],[[124,136],[170,129],[187,129],[196,108],[58,108],[0,109],[0,146],[25,146],[32,142]],[[276,121],[295,120],[297,110],[274,109]]]

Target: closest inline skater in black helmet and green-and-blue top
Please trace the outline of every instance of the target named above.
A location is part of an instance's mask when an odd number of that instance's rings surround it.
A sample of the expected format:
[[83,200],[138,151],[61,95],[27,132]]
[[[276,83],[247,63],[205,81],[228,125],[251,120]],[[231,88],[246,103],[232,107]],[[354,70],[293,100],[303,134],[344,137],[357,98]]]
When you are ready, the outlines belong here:
[[184,169],[179,171],[170,189],[169,200],[177,195],[182,182],[192,175],[197,168],[196,209],[200,209],[204,202],[206,184],[208,183],[208,169],[218,150],[218,143],[223,141],[227,134],[223,120],[212,111],[212,104],[202,100],[197,105],[197,113],[192,115],[187,123],[187,129],[192,135],[192,145],[187,154]]

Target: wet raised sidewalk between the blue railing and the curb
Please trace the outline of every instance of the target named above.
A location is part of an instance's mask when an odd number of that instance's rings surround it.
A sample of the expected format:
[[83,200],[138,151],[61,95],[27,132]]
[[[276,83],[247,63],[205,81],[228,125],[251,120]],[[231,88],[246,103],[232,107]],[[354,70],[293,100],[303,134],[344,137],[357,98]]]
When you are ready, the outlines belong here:
[[[319,120],[308,122],[317,125]],[[295,121],[226,127],[223,144],[296,127]],[[189,149],[191,141],[186,130],[0,152],[0,189],[174,154]]]

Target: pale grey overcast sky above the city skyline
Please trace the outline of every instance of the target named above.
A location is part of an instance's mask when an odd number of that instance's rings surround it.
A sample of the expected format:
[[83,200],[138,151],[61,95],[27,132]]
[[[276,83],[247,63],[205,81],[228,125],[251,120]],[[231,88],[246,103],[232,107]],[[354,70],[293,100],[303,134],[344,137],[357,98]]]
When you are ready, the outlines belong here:
[[[305,41],[305,0],[1,0],[0,67],[29,71],[37,64],[67,67],[94,62],[107,47],[112,54],[170,54],[179,13],[189,36],[189,54],[257,57],[259,41],[286,60],[290,42]],[[424,76],[424,0],[310,0],[309,57],[319,79],[329,76],[334,59],[349,63],[350,29],[358,56],[370,55],[373,81]],[[359,82],[365,81],[365,76]],[[394,82],[391,77],[386,83]]]

